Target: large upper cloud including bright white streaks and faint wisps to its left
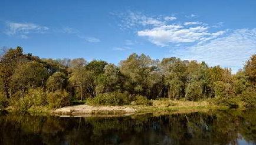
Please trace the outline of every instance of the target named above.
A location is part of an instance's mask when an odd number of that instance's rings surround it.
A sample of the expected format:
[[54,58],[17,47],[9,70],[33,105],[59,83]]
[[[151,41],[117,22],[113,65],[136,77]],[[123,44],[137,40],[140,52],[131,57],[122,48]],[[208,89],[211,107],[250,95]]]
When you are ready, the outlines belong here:
[[[122,15],[120,26],[136,28],[137,36],[147,38],[157,46],[169,46],[172,43],[203,43],[218,38],[225,31],[211,32],[211,26],[198,21],[176,23],[174,16],[150,16],[141,12],[127,12]],[[120,16],[120,15],[119,15]],[[189,18],[196,17],[191,14]]]

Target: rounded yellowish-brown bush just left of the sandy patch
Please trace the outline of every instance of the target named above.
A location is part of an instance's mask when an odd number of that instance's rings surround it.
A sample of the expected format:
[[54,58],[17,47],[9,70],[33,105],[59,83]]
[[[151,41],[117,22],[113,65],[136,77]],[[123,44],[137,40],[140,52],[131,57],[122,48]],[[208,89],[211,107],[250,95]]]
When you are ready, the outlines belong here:
[[68,106],[71,102],[69,93],[65,90],[56,90],[47,93],[47,102],[51,108]]

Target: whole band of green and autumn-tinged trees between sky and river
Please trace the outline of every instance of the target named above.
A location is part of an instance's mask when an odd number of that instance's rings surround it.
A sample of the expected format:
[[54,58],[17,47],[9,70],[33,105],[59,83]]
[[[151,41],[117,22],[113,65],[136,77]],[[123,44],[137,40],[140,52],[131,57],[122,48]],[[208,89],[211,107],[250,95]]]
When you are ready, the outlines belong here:
[[208,66],[196,60],[151,59],[132,53],[119,65],[104,60],[43,59],[21,47],[2,49],[0,109],[91,105],[150,105],[150,100],[209,100],[228,107],[256,106],[256,55],[244,68]]

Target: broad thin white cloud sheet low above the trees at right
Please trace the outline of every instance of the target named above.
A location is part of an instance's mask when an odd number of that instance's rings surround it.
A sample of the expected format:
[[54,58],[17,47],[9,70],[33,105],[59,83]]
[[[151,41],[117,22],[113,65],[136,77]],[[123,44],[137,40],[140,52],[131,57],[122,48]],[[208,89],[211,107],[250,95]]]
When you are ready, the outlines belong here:
[[182,59],[205,61],[211,66],[221,65],[236,72],[256,53],[256,29],[237,29],[222,38],[170,52]]

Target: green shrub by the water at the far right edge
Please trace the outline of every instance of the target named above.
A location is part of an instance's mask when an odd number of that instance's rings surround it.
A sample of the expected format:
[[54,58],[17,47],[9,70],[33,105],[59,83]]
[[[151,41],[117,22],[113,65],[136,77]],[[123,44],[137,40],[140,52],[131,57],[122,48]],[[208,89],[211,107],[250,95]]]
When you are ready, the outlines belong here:
[[253,89],[247,89],[240,95],[242,102],[244,102],[244,106],[247,109],[255,109],[256,108],[256,92]]

